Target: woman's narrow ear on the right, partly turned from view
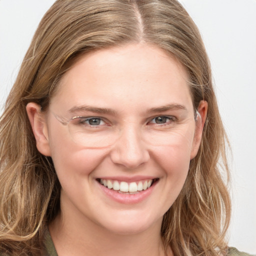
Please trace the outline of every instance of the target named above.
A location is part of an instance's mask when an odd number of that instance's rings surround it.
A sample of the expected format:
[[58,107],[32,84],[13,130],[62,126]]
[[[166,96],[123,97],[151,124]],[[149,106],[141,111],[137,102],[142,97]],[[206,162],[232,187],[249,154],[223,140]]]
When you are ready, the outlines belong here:
[[193,159],[197,154],[197,151],[201,142],[202,129],[206,120],[207,109],[208,109],[207,101],[201,100],[199,103],[198,109],[196,111],[195,131],[194,131],[192,149],[190,153],[190,160]]

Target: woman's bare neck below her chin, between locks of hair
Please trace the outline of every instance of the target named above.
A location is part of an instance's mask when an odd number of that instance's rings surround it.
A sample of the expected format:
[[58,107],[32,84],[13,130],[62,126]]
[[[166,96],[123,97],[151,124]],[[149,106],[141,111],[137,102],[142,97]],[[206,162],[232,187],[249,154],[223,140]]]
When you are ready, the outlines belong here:
[[86,218],[81,221],[60,213],[49,224],[49,231],[59,256],[163,256],[160,226],[161,220],[147,230],[119,234]]

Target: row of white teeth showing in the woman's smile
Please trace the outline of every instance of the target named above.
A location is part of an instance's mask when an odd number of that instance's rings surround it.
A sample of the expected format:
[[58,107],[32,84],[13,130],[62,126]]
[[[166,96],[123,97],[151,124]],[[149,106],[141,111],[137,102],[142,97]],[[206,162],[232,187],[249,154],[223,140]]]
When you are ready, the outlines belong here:
[[125,194],[134,194],[134,193],[138,193],[142,190],[146,190],[158,179],[159,178],[146,179],[146,180],[140,180],[140,181],[136,181],[136,182],[135,181],[125,182],[125,181],[102,179],[102,178],[97,178],[96,180],[101,185],[107,187],[108,189],[115,190],[116,192],[125,193]]

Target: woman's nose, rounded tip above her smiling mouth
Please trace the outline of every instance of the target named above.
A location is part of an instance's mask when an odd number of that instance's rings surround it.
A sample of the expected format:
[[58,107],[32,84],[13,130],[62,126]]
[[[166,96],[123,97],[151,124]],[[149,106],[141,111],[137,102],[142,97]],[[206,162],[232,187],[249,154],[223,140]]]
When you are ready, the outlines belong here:
[[120,137],[115,141],[110,153],[111,160],[130,169],[147,162],[150,156],[140,131],[136,131],[134,127],[126,127],[120,132]]

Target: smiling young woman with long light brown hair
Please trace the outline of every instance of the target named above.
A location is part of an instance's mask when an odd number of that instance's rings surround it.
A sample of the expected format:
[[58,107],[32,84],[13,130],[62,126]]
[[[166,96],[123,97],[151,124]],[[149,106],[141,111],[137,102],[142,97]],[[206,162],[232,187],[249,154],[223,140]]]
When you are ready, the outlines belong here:
[[0,120],[2,253],[239,255],[224,139],[178,2],[57,0]]

